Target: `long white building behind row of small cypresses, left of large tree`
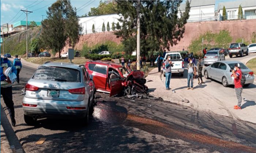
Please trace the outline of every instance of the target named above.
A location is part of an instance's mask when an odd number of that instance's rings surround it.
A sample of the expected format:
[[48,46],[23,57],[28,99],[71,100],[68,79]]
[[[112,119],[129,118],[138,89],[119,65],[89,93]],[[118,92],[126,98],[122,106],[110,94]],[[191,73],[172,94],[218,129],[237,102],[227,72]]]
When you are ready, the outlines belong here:
[[[79,24],[83,28],[83,35],[92,34],[93,24],[95,32],[102,32],[103,23],[105,24],[105,29],[107,31],[107,24],[109,22],[110,31],[112,31],[112,23],[114,22],[114,25],[116,27],[119,18],[120,16],[118,14],[79,17]],[[119,25],[122,26],[122,23],[119,22]]]

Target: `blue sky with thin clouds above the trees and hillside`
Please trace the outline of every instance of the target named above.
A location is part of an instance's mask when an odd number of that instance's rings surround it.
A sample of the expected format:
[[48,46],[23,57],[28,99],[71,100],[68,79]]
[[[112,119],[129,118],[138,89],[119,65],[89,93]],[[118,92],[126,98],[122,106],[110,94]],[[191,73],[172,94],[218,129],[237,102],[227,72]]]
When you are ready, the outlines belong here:
[[[216,0],[216,6],[219,2],[230,0]],[[1,0],[1,25],[4,23],[13,24],[15,21],[26,20],[26,15],[20,9],[33,11],[28,16],[29,21],[41,21],[42,15],[46,17],[46,10],[54,3],[53,0]],[[79,16],[90,11],[91,7],[97,7],[99,0],[71,0],[73,7],[78,9]]]

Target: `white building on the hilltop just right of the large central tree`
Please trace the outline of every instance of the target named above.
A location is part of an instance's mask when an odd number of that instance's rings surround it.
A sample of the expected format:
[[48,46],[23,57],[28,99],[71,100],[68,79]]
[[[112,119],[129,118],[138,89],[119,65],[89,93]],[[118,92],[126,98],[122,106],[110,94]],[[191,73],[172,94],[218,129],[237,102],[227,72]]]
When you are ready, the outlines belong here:
[[[214,21],[215,17],[215,0],[191,0],[188,22]],[[186,3],[180,4],[181,12],[185,12]],[[180,17],[180,13],[178,13]]]

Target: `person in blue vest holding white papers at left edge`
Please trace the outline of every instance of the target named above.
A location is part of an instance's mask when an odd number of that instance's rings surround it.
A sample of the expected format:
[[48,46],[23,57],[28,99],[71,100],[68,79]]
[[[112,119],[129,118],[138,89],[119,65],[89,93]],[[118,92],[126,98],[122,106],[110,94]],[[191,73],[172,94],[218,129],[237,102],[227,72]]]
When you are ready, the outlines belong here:
[[8,76],[5,76],[5,70],[11,67],[12,72],[17,74],[16,68],[12,65],[11,61],[8,59],[1,58],[1,95],[3,96],[4,103],[7,106],[9,115],[11,118],[12,126],[15,126],[15,112],[14,112],[14,103],[12,101],[12,82]]

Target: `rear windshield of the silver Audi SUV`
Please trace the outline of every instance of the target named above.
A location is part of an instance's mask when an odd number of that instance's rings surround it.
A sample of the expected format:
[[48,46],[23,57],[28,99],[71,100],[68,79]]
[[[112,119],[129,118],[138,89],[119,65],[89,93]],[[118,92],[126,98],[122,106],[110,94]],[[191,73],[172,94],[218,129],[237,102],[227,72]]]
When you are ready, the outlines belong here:
[[80,71],[65,67],[40,66],[35,71],[32,79],[59,81],[59,82],[80,82]]

